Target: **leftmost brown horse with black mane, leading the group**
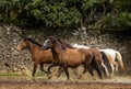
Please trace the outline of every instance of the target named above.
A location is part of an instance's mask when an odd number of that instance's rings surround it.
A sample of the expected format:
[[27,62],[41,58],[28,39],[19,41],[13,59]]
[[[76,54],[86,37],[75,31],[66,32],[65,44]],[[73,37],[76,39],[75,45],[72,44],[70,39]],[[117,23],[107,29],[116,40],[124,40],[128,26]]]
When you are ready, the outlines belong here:
[[52,63],[52,54],[50,49],[43,51],[40,47],[41,45],[32,38],[23,38],[17,45],[19,51],[27,48],[32,55],[32,59],[34,62],[34,68],[32,74],[33,77],[35,76],[38,65],[40,65],[40,70],[46,73],[46,70],[44,70],[44,64]]

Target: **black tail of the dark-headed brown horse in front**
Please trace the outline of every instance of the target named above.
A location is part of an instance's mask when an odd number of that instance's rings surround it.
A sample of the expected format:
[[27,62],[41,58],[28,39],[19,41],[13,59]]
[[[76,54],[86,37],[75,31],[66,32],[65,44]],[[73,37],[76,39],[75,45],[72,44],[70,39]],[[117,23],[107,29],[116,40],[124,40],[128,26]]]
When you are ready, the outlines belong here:
[[92,59],[92,63],[91,63],[92,67],[96,69],[98,76],[100,79],[103,79],[103,75],[102,75],[102,70],[100,70],[100,67],[98,66],[98,63],[95,58],[95,55],[93,54],[93,59]]

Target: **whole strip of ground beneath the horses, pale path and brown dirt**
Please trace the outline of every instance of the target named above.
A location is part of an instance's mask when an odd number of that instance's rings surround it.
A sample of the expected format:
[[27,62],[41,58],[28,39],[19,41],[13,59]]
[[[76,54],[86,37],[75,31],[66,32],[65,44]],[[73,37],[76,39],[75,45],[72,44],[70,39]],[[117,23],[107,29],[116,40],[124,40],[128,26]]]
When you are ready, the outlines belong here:
[[67,80],[26,77],[0,77],[0,89],[131,89],[131,77],[103,80]]

